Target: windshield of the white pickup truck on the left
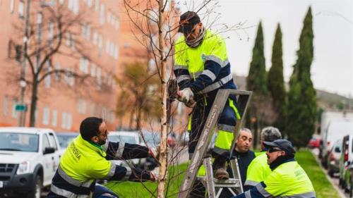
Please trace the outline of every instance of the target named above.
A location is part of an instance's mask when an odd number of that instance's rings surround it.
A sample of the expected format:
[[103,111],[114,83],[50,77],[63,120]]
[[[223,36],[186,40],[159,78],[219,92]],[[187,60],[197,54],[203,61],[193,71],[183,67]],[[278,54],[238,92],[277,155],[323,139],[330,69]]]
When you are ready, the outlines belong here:
[[37,134],[1,132],[0,150],[2,151],[38,151],[39,136]]

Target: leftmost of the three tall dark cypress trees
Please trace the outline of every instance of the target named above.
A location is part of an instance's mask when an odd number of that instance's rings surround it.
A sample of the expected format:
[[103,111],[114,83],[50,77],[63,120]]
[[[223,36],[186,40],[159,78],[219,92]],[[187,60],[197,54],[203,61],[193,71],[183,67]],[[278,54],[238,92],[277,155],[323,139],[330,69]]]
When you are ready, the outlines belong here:
[[249,128],[254,132],[254,144],[258,143],[258,131],[263,127],[263,118],[261,117],[259,104],[263,104],[268,95],[267,73],[265,68],[265,56],[263,52],[263,28],[261,22],[258,25],[258,31],[253,47],[253,57],[250,63],[249,75],[246,79],[246,89],[253,92],[249,104],[250,123]]

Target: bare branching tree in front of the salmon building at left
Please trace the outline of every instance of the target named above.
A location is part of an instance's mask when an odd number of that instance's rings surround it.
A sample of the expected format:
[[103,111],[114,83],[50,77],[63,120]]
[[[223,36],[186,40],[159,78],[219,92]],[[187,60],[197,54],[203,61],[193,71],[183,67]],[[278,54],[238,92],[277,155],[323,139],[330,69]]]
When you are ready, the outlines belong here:
[[[70,58],[79,59],[90,57],[85,52],[83,39],[79,37],[80,27],[85,21],[85,12],[74,13],[68,10],[65,4],[45,4],[42,1],[31,3],[31,6],[38,6],[39,12],[30,14],[31,20],[28,21],[28,47],[23,50],[22,37],[25,32],[24,25],[14,25],[18,34],[11,38],[9,49],[15,51],[12,58],[20,62],[24,58],[26,63],[25,70],[29,70],[24,77],[19,76],[18,70],[9,72],[11,78],[16,81],[25,81],[30,87],[30,126],[35,126],[35,110],[37,109],[38,92],[40,85],[51,75],[64,75],[70,80],[78,79],[83,82],[88,75],[76,71],[76,66],[71,68],[56,68],[52,64],[54,56],[60,54]],[[19,36],[18,36],[19,35]],[[69,47],[65,46],[65,43]],[[66,49],[65,49],[66,48]],[[71,50],[68,48],[71,48]],[[88,58],[89,60],[89,58]]]

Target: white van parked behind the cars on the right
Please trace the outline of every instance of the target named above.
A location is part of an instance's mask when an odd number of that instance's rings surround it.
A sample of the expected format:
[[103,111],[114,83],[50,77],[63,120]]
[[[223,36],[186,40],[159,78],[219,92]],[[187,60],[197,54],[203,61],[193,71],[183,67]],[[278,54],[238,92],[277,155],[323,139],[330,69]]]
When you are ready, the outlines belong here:
[[337,140],[342,140],[345,135],[353,133],[353,120],[341,118],[340,120],[332,120],[328,126],[328,131],[326,132],[326,139],[323,140],[322,147],[322,158],[321,163],[323,167],[328,168],[328,156],[330,156],[330,151],[332,144]]

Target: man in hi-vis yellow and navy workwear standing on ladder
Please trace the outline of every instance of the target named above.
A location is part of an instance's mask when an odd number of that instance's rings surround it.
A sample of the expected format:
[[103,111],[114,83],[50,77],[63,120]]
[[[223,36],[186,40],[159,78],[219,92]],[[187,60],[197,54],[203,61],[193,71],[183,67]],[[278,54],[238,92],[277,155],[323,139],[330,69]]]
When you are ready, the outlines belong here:
[[[187,11],[182,14],[178,32],[183,33],[183,36],[175,44],[174,74],[180,90],[179,101],[186,106],[193,106],[189,119],[191,159],[218,89],[237,89],[237,86],[230,73],[225,39],[206,30],[197,13]],[[236,98],[229,96],[218,121],[213,149],[213,170],[217,179],[229,178],[225,163],[229,158],[237,119],[240,119],[236,105]]]

